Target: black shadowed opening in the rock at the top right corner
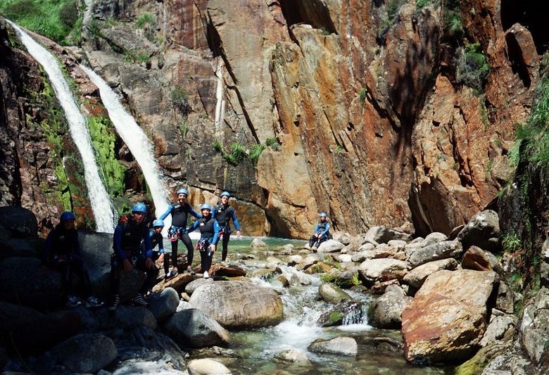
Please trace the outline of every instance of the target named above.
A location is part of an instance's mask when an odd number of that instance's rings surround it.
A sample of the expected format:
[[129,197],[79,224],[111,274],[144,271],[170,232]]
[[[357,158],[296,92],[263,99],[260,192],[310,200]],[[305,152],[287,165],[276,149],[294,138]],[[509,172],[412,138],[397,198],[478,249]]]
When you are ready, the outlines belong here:
[[515,23],[523,25],[532,34],[538,54],[543,54],[549,47],[547,5],[547,1],[543,0],[501,0],[503,30],[508,30]]

